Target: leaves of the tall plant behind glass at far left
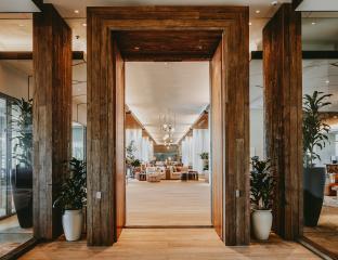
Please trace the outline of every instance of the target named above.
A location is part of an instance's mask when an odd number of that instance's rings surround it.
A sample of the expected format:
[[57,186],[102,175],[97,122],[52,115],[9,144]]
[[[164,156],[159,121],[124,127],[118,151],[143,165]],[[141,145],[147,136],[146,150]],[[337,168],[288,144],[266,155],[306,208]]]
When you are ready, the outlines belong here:
[[24,167],[31,167],[32,158],[32,100],[13,101],[11,114],[11,129],[16,141],[13,158]]

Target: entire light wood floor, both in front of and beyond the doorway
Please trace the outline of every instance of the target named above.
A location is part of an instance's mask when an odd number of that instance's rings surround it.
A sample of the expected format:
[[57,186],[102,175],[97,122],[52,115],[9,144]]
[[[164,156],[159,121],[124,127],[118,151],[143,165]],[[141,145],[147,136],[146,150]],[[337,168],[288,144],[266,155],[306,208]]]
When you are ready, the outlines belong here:
[[[210,190],[203,182],[129,182],[128,224],[210,224]],[[112,247],[87,247],[86,240],[38,245],[23,260],[221,260],[318,259],[296,243],[272,235],[266,243],[225,247],[213,229],[125,229]]]

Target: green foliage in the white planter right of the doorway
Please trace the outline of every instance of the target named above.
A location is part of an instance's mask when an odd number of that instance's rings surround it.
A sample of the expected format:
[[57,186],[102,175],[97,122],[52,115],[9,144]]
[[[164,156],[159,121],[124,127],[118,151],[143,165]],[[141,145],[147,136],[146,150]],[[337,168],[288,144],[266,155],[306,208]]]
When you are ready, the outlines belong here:
[[251,158],[250,202],[255,209],[268,210],[272,208],[275,179],[272,173],[270,159],[260,160],[258,156]]

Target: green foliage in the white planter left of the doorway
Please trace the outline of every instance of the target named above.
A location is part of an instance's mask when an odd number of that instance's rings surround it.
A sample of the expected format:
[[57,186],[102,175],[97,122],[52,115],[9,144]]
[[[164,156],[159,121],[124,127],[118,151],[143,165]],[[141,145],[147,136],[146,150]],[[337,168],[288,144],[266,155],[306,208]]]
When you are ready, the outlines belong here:
[[81,209],[87,203],[86,162],[72,158],[69,161],[69,178],[63,183],[53,207],[63,210]]

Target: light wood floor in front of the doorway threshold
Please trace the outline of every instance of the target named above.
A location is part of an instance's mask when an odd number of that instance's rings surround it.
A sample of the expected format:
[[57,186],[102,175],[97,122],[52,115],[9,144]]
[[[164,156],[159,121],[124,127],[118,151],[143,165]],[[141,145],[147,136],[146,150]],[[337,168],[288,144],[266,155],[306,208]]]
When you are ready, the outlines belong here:
[[225,247],[212,229],[125,229],[113,247],[87,247],[86,242],[41,244],[22,260],[223,260],[320,259],[296,243],[272,236],[269,243]]

